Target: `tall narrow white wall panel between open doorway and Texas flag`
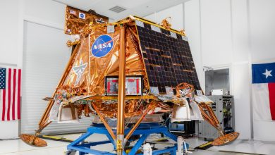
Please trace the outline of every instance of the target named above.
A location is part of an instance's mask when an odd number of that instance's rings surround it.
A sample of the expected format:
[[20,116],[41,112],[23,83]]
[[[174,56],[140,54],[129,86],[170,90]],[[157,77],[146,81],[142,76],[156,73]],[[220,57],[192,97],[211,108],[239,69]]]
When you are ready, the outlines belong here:
[[[235,98],[235,124],[240,139],[250,139],[252,132],[250,111],[250,67],[249,35],[247,20],[247,0],[231,0],[233,80],[232,91]],[[244,125],[245,123],[245,125]]]

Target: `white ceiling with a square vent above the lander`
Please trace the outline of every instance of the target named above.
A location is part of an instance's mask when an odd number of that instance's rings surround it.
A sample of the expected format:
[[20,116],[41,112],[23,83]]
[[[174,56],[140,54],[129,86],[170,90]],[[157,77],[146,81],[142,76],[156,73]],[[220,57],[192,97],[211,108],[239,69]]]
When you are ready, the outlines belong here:
[[[73,6],[84,11],[90,9],[97,13],[109,17],[111,20],[120,20],[129,15],[147,16],[151,13],[164,10],[171,6],[176,6],[189,0],[53,0],[68,6]],[[110,11],[109,8],[121,6],[126,8],[121,13]]]

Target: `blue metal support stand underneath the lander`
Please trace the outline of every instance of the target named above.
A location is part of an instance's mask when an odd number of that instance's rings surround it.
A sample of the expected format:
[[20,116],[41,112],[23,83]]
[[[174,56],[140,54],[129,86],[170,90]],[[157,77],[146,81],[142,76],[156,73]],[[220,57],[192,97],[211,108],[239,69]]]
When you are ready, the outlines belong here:
[[[113,130],[116,135],[116,130]],[[125,130],[125,134],[130,131],[130,129]],[[90,135],[97,133],[106,135],[109,140],[101,141],[101,142],[88,142],[88,143],[82,143],[87,137],[90,137]],[[138,149],[141,147],[141,145],[145,142],[147,137],[153,133],[163,133],[167,137],[171,138],[175,142],[177,141],[177,137],[173,134],[171,134],[165,126],[159,125],[158,123],[142,123],[139,125],[139,127],[133,132],[133,135],[141,135],[138,142],[135,144],[135,146],[131,149],[130,153],[128,155],[134,155],[138,151]],[[73,141],[71,144],[67,146],[68,151],[79,151],[80,155],[82,154],[106,154],[106,155],[114,155],[107,151],[98,151],[94,149],[90,149],[92,146],[96,146],[99,144],[106,144],[111,143],[114,146],[114,149],[116,149],[116,144],[114,140],[111,138],[111,135],[109,135],[109,132],[106,130],[104,125],[102,124],[94,124],[93,126],[87,128],[87,132],[79,137],[77,140]],[[188,144],[187,144],[187,147]],[[175,144],[173,147],[166,147],[165,149],[158,149],[153,151],[153,155],[155,154],[164,154],[164,153],[170,153],[172,155],[176,155],[177,150],[177,144]],[[123,152],[123,154],[126,154]]]

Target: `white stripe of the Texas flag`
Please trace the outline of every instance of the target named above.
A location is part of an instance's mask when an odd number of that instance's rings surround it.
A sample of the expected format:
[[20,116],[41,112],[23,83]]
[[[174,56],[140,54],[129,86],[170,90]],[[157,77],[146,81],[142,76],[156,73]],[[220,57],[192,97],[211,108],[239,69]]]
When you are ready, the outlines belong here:
[[271,121],[267,83],[252,85],[253,119]]

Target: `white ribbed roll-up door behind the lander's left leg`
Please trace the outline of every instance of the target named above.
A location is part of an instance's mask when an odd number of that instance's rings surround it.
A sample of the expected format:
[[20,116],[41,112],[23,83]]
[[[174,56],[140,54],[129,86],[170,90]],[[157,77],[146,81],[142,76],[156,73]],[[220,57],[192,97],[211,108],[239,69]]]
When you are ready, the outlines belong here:
[[[47,101],[51,97],[66,67],[71,49],[66,46],[67,35],[63,30],[52,27],[25,23],[25,42],[23,54],[23,102],[22,125],[23,133],[37,130]],[[82,123],[57,124],[51,123],[43,132],[75,132],[85,130],[90,125],[90,118]]]

